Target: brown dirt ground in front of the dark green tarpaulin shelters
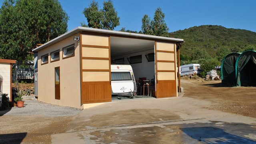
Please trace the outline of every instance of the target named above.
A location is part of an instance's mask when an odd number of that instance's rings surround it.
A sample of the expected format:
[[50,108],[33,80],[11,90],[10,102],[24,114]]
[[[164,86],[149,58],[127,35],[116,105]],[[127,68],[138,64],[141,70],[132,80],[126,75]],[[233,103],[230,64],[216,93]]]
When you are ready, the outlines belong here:
[[208,109],[256,118],[255,87],[223,87],[219,81],[181,80],[184,97],[211,101]]

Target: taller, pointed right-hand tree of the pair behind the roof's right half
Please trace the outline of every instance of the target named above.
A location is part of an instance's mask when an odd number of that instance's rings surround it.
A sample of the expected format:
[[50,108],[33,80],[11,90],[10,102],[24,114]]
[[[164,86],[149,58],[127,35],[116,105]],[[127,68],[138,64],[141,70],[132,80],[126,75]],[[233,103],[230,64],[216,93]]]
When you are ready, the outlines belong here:
[[164,17],[165,16],[164,16],[164,13],[162,12],[162,9],[157,8],[154,15],[154,21],[151,21],[154,35],[168,37],[169,28],[164,22]]

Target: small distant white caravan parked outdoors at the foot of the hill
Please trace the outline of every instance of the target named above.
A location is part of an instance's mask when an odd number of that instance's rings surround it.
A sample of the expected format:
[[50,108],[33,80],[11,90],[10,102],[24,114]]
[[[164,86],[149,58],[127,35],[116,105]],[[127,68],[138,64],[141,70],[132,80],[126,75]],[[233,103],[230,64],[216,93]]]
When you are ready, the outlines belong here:
[[180,76],[190,75],[190,74],[198,74],[198,70],[200,69],[200,64],[185,64],[180,66],[181,74]]

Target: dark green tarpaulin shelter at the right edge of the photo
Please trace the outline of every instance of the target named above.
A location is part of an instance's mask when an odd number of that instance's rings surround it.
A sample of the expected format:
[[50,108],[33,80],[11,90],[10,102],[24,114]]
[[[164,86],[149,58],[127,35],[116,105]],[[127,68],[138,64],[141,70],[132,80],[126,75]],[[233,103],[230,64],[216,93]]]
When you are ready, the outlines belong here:
[[245,51],[238,56],[236,86],[256,86],[256,51]]

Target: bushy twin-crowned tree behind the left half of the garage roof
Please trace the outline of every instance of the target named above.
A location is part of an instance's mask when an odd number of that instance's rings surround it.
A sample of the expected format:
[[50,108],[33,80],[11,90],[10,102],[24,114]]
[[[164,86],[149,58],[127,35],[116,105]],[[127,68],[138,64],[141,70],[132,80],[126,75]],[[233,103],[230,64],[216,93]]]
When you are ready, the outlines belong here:
[[[87,19],[88,27],[114,30],[116,26],[120,25],[120,18],[117,16],[117,12],[111,0],[104,1],[103,9],[100,10],[98,2],[93,0],[88,8],[84,8],[83,14]],[[83,25],[85,24],[82,23],[82,26]]]

